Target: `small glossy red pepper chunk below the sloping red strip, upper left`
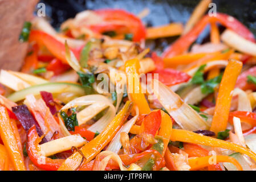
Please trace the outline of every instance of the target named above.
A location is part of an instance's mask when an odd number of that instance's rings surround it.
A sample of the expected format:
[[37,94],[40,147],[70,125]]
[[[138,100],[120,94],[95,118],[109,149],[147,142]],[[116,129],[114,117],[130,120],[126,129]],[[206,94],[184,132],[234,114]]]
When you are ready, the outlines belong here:
[[47,71],[54,72],[54,75],[60,75],[70,69],[70,65],[63,64],[59,59],[53,59],[46,67]]

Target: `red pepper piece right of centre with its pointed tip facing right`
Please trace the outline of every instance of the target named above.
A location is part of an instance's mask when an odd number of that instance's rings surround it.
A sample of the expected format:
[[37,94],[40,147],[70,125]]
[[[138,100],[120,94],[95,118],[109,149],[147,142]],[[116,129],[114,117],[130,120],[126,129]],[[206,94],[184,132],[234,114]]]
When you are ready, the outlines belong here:
[[189,76],[188,74],[172,68],[157,69],[151,73],[152,77],[154,77],[154,74],[158,74],[158,80],[166,86],[180,84],[182,82],[188,81],[191,78],[191,76]]

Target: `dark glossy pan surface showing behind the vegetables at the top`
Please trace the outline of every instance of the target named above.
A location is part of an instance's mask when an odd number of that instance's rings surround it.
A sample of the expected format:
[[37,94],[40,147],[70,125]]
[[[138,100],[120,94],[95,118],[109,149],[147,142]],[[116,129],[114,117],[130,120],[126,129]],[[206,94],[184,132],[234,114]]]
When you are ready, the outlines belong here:
[[[151,13],[143,18],[147,26],[160,26],[170,22],[185,23],[199,0],[42,0],[46,4],[46,14],[51,20],[52,26],[59,25],[68,18],[73,18],[76,13],[87,9],[119,8],[139,14],[145,7]],[[256,35],[256,1],[255,0],[213,0],[217,5],[217,11],[234,16],[250,28]],[[220,27],[221,28],[221,27]],[[223,28],[221,28],[223,29]],[[201,34],[197,43],[205,42],[209,28]],[[151,48],[163,47],[175,38],[157,39]]]

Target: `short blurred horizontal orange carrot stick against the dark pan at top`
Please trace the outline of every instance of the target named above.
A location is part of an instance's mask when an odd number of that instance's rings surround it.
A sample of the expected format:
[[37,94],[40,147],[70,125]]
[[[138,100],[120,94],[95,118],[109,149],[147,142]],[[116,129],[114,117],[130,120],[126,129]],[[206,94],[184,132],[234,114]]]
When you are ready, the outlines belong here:
[[182,23],[170,23],[160,27],[147,28],[147,39],[165,38],[181,35],[183,32]]

